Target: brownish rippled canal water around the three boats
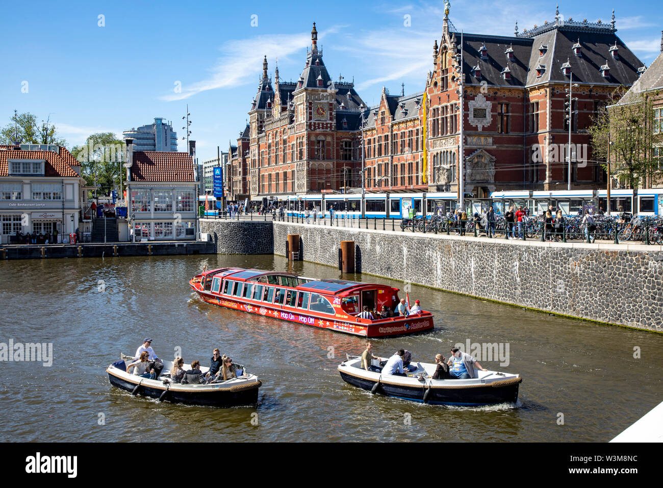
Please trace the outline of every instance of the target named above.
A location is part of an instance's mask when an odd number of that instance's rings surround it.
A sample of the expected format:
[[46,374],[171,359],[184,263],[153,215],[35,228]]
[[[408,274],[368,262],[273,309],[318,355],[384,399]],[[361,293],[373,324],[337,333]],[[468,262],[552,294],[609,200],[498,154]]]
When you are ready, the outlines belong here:
[[[463,408],[372,396],[336,369],[346,353],[361,353],[363,339],[204,303],[188,286],[204,266],[404,286],[279,256],[1,262],[0,343],[52,343],[52,366],[0,363],[3,440],[605,442],[662,400],[661,335],[416,285],[410,301],[434,313],[435,330],[375,340],[375,353],[403,347],[432,363],[455,343],[497,343],[502,357],[480,362],[522,375],[518,403]],[[145,336],[162,358],[181,348],[186,363],[209,365],[219,347],[259,375],[259,404],[160,404],[113,388],[105,366],[133,355]]]

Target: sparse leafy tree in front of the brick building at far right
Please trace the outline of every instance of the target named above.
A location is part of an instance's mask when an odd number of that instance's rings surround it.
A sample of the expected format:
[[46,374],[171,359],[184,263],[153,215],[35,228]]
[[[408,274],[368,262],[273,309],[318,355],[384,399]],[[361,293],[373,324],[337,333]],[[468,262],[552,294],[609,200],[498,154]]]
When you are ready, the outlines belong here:
[[[630,188],[661,176],[654,147],[663,142],[663,133],[654,131],[654,92],[618,90],[609,104],[599,110],[591,134],[592,153],[599,161],[608,160],[617,179],[625,180]],[[607,169],[607,163],[602,164]]]

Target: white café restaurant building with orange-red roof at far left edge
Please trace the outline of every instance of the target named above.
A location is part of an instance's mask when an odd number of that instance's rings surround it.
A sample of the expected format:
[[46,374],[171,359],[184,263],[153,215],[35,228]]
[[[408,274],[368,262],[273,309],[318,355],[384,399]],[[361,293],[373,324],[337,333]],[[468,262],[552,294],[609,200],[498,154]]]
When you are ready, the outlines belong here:
[[[80,163],[52,144],[0,145],[0,235],[58,233],[68,242],[82,222],[85,180]],[[86,208],[87,209],[87,208]]]

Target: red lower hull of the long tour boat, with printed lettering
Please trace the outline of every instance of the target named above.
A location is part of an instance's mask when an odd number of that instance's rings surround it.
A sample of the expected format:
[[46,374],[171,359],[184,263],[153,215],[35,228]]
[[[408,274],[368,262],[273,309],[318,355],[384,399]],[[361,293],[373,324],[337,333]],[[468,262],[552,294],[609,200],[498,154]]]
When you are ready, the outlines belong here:
[[320,329],[329,329],[334,332],[358,335],[361,337],[390,337],[397,335],[410,335],[433,329],[432,315],[411,315],[407,319],[388,321],[373,325],[360,325],[355,322],[339,320],[337,317],[312,317],[303,315],[296,311],[288,309],[274,309],[265,307],[265,304],[252,304],[235,301],[231,297],[218,297],[211,293],[200,291],[195,284],[191,284],[191,289],[198,293],[203,301],[224,307],[227,309],[239,310],[243,312],[255,313],[272,319],[279,319],[288,322],[298,323],[300,325],[310,325]]

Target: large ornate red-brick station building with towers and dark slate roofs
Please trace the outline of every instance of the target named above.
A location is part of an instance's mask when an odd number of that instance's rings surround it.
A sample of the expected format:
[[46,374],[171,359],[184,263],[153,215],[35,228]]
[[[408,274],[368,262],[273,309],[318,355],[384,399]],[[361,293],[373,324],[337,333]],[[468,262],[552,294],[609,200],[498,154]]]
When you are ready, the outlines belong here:
[[[570,123],[578,160],[571,186],[603,187],[587,127],[615,88],[631,86],[644,72],[615,35],[614,13],[610,23],[564,21],[556,13],[530,31],[518,33],[516,24],[513,37],[462,39],[448,14],[424,90],[396,96],[383,88],[370,108],[353,83],[331,81],[315,24],[297,82],[281,82],[276,68],[272,88],[265,57],[249,111],[249,171],[236,171],[251,197],[361,187],[362,147],[367,191],[458,192],[461,152],[466,194],[566,189],[571,82],[577,84]],[[240,164],[238,151],[233,175]]]

